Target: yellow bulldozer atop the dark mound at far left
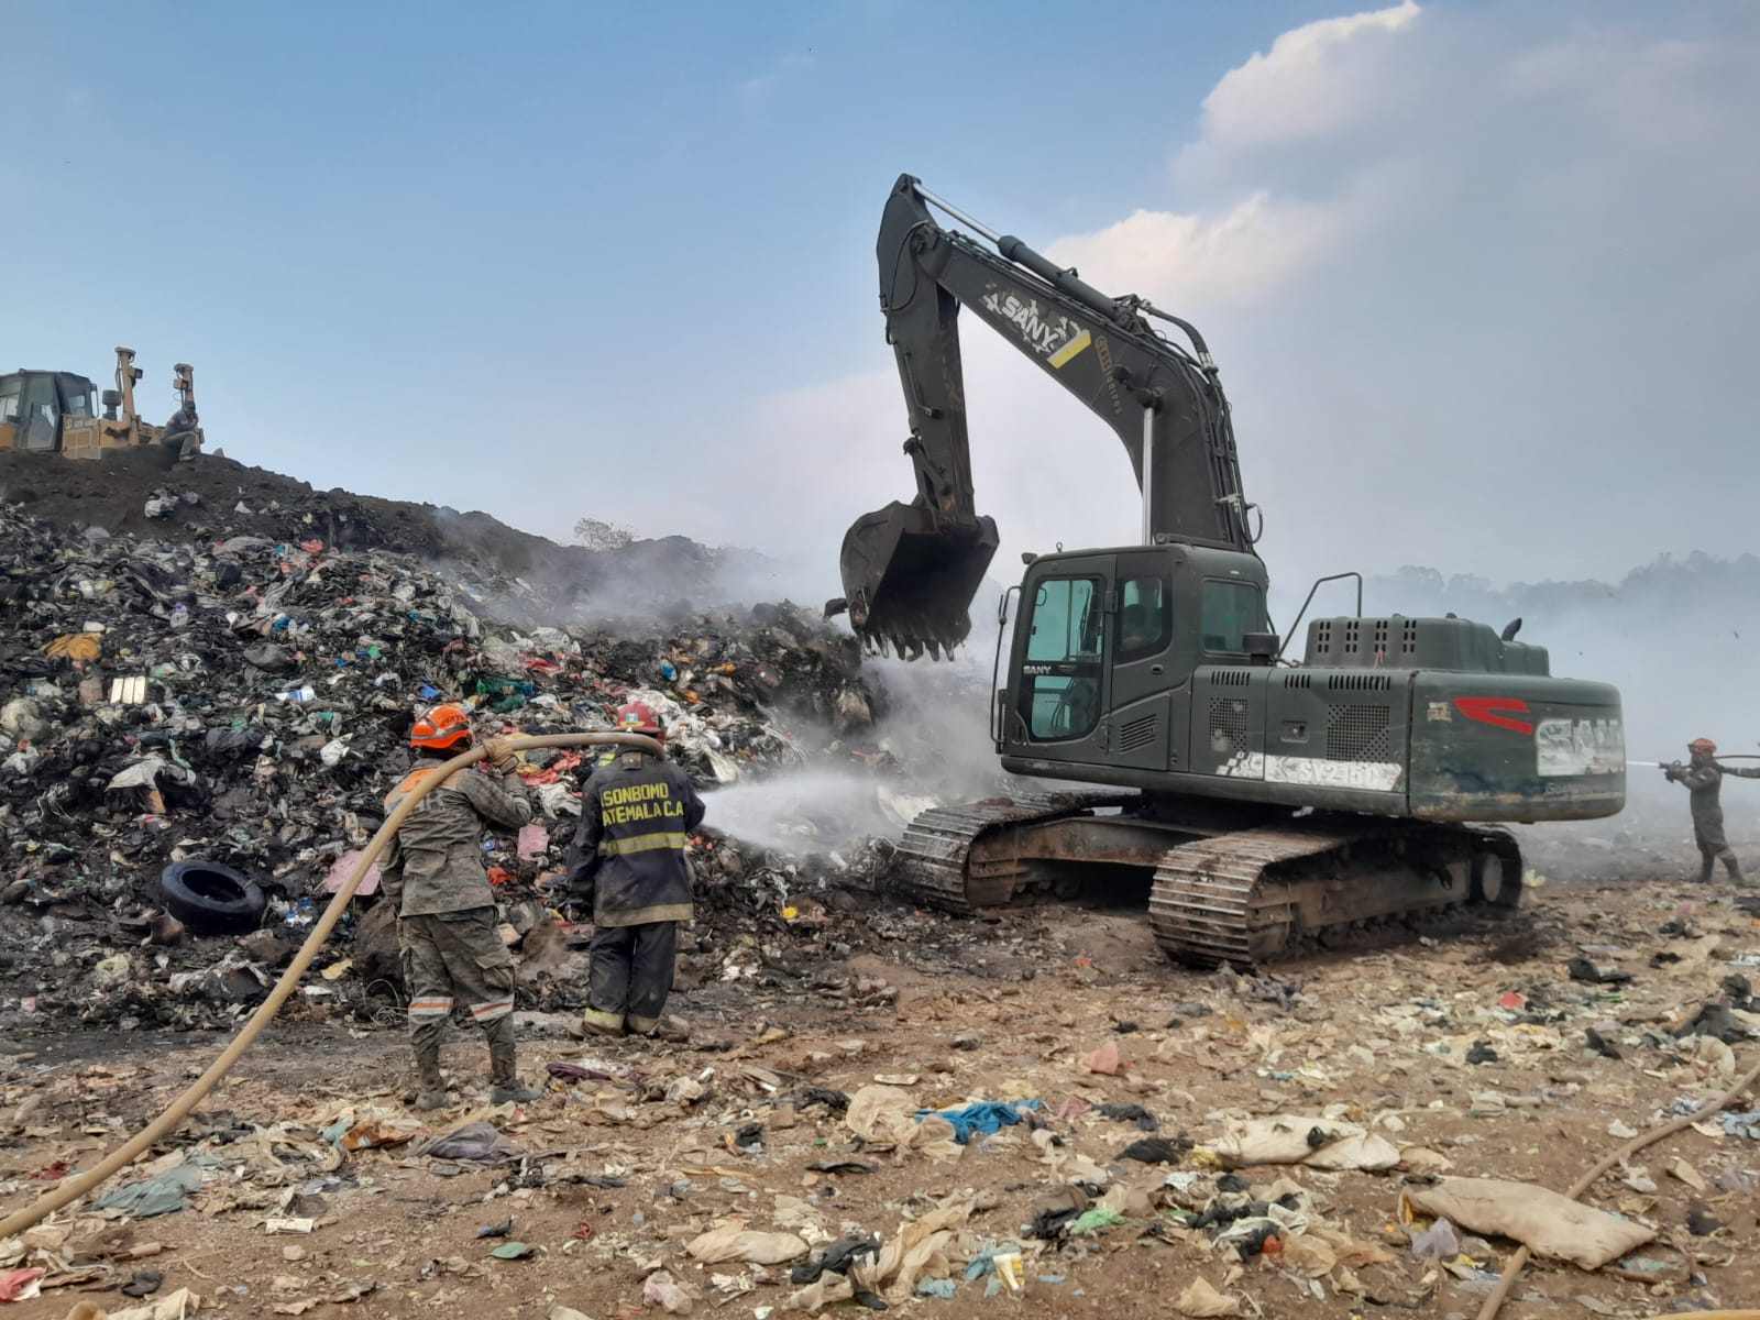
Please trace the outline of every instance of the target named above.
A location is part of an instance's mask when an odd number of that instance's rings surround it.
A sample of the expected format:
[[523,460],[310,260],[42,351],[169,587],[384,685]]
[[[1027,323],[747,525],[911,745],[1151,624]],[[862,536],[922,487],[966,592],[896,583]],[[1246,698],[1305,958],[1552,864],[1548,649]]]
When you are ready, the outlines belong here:
[[[172,368],[172,387],[195,415],[195,373],[188,363]],[[0,375],[0,449],[60,452],[63,458],[104,458],[118,449],[178,444],[194,456],[201,428],[153,426],[134,407],[134,384],[143,371],[134,348],[116,350],[116,389],[104,391],[104,412],[95,407],[97,385],[74,371],[9,371]],[[169,431],[169,435],[167,435]]]

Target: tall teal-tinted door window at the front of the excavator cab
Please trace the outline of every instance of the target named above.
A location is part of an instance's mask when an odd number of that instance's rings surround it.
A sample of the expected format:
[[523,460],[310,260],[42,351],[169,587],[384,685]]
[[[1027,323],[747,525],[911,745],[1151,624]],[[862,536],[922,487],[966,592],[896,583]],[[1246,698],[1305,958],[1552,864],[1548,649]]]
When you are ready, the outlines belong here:
[[1098,577],[1047,577],[1033,593],[1021,718],[1035,741],[1086,737],[1100,722],[1102,600]]

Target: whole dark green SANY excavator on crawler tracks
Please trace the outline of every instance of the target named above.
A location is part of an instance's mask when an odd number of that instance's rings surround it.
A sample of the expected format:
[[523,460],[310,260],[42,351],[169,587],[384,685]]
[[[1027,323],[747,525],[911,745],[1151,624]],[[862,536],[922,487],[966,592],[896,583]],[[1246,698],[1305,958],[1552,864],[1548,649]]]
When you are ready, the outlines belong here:
[[970,912],[1130,873],[1170,957],[1251,966],[1508,913],[1522,859],[1501,825],[1624,806],[1617,690],[1552,678],[1519,625],[1364,618],[1359,577],[1357,614],[1313,620],[1304,660],[1283,658],[1228,400],[1190,322],[908,174],[878,264],[917,495],[855,521],[827,614],[906,658],[970,634],[998,535],[973,498],[961,308],[1114,431],[1142,491],[1137,544],[1023,556],[1000,605],[991,737],[1003,769],[1058,785],[919,815],[891,869],[906,894]]

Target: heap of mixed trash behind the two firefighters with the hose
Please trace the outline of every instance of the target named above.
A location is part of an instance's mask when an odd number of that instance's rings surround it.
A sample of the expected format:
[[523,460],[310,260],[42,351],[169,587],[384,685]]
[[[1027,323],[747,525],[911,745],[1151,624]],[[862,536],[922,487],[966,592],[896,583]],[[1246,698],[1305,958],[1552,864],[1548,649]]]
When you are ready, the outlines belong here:
[[[0,1031],[238,1016],[382,824],[431,702],[540,734],[609,729],[639,697],[706,790],[815,762],[898,769],[866,741],[880,700],[854,639],[790,604],[614,630],[496,621],[551,605],[491,568],[224,526],[204,544],[109,535],[0,505]],[[532,882],[563,864],[584,769],[530,753],[546,824],[486,843],[516,938],[544,919]],[[711,898],[767,869],[713,831],[699,843]],[[262,929],[241,945],[167,919],[178,862],[257,885]],[[341,1000],[385,972],[340,964],[317,986]]]

